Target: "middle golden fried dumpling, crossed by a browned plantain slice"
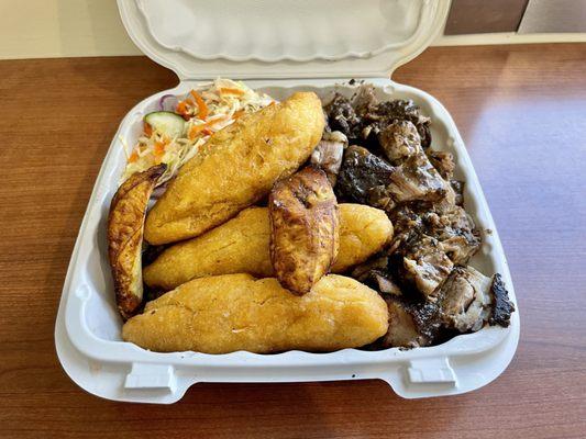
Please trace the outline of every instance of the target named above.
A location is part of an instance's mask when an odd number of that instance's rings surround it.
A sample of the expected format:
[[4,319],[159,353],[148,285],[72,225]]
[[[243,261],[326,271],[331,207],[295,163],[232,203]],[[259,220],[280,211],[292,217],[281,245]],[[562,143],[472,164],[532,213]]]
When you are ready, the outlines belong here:
[[[333,273],[364,262],[392,238],[392,224],[384,211],[346,203],[339,204],[339,209],[340,251]],[[206,275],[248,273],[274,278],[269,241],[268,207],[247,207],[210,232],[166,248],[144,268],[143,280],[148,286],[170,291]]]

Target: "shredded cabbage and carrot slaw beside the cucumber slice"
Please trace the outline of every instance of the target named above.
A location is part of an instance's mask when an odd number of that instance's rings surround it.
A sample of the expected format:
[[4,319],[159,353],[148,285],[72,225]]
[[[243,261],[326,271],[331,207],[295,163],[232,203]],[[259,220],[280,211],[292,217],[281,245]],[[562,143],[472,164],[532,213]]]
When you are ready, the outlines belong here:
[[[201,98],[204,103],[207,114],[203,116],[196,98]],[[167,169],[157,183],[163,184],[177,175],[179,168],[198,153],[213,133],[232,124],[243,113],[253,113],[273,102],[275,101],[267,94],[257,93],[241,81],[231,79],[218,78],[197,87],[175,109],[186,120],[185,132],[169,138],[145,125],[130,154],[126,153],[122,180],[155,165],[166,164]],[[125,143],[121,140],[126,151]]]

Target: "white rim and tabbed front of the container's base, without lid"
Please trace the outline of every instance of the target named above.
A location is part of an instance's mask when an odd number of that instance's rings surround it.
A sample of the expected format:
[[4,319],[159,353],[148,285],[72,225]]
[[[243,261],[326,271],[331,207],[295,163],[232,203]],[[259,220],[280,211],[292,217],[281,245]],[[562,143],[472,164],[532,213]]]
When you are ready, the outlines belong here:
[[[369,352],[344,349],[332,353],[288,351],[274,356],[244,351],[222,356],[196,352],[156,353],[132,344],[97,338],[85,322],[86,307],[93,293],[81,279],[80,269],[84,268],[84,261],[80,260],[80,250],[91,245],[84,238],[89,224],[100,214],[96,209],[96,201],[103,188],[111,184],[104,180],[104,170],[112,159],[118,135],[123,127],[140,114],[141,109],[148,102],[165,93],[179,94],[190,87],[189,83],[180,83],[176,89],[147,98],[124,117],[90,198],[67,271],[55,328],[59,360],[78,385],[110,399],[173,403],[198,381],[296,382],[377,378],[389,383],[400,396],[413,398],[469,392],[486,385],[507,368],[519,339],[519,309],[498,233],[457,128],[447,111],[428,93],[385,79],[369,81],[383,87],[386,92],[400,91],[424,100],[430,105],[430,116],[434,121],[441,121],[449,130],[467,185],[475,192],[476,209],[485,216],[484,227],[493,230],[491,251],[496,269],[502,274],[517,308],[511,318],[511,326],[507,329],[484,328],[475,334],[455,337],[440,346],[409,351],[387,349]],[[250,86],[283,86],[276,82],[251,81]],[[288,86],[319,88],[333,86],[335,82],[341,80],[298,80],[288,81]],[[87,248],[84,251],[88,251]]]

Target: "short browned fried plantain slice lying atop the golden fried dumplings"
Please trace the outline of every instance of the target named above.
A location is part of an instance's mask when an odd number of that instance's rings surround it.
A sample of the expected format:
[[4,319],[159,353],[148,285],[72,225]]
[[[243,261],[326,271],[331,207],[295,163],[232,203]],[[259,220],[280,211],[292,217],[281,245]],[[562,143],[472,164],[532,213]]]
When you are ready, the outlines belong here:
[[309,166],[278,181],[268,199],[270,261],[280,284],[302,295],[340,248],[340,213],[325,173]]

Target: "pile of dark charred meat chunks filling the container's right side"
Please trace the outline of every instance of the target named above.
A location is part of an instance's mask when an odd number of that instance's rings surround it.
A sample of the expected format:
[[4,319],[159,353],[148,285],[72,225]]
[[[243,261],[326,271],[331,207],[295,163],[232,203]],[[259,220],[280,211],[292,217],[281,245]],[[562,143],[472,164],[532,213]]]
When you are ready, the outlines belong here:
[[389,308],[384,347],[441,342],[486,323],[507,326],[513,311],[500,275],[467,266],[482,245],[464,210],[464,182],[449,151],[431,148],[430,119],[406,100],[380,102],[372,86],[336,95],[330,124],[351,144],[342,159],[340,199],[384,210],[391,243],[351,275],[378,291]]

